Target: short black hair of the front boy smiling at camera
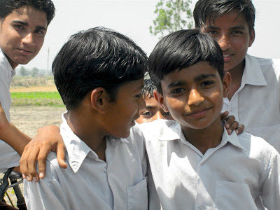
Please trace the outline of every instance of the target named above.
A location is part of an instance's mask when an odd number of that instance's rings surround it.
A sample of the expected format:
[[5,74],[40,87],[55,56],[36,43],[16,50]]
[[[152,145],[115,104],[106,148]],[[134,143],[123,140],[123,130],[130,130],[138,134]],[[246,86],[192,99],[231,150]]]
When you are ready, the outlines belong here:
[[223,52],[218,43],[197,29],[186,29],[169,34],[158,42],[149,57],[148,71],[162,94],[160,81],[168,73],[201,61],[214,66],[223,79]]

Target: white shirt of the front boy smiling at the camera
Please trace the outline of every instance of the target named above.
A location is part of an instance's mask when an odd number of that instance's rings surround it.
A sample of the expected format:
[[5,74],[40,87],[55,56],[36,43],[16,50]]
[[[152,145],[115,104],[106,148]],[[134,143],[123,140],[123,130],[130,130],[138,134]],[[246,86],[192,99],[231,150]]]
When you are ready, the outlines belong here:
[[203,155],[172,120],[141,128],[154,209],[280,209],[279,153],[265,140],[224,129],[221,144]]

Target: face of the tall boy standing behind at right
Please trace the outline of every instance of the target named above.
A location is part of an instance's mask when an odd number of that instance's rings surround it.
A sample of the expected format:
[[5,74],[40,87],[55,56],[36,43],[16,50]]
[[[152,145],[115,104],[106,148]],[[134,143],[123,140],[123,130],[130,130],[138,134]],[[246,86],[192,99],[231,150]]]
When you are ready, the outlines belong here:
[[208,21],[201,31],[218,41],[223,50],[225,71],[243,70],[248,47],[255,39],[255,31],[249,30],[244,15],[232,10],[218,17],[215,22]]

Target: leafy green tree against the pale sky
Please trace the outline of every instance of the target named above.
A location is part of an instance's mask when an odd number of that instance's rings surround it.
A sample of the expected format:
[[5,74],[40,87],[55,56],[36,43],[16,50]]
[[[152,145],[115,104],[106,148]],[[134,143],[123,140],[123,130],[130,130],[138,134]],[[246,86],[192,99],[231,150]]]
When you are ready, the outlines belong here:
[[190,8],[191,0],[160,0],[155,6],[157,14],[150,26],[150,33],[160,38],[174,31],[191,29],[193,27],[193,11]]

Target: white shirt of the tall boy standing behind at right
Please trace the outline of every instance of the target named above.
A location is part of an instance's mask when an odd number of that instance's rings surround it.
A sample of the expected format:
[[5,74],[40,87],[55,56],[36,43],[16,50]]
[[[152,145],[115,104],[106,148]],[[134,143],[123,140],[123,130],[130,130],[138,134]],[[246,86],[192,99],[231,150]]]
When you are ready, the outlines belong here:
[[280,152],[280,59],[246,55],[239,90],[224,99],[228,110],[245,131],[262,137]]

